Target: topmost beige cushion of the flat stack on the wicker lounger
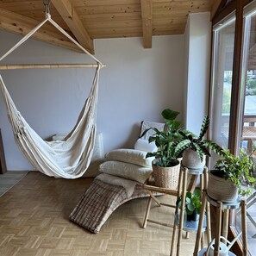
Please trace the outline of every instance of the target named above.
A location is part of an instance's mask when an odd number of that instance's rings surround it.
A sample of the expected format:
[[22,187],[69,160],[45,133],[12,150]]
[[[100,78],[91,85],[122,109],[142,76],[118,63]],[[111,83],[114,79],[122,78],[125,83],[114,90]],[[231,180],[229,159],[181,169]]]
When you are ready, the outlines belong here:
[[135,149],[115,149],[106,154],[107,160],[116,160],[129,164],[151,167],[153,158],[146,158],[147,152]]

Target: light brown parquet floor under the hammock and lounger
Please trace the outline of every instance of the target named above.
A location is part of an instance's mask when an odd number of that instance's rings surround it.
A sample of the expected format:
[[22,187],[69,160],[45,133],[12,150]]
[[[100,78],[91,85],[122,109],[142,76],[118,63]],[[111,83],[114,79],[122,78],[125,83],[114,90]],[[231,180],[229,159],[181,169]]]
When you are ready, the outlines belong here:
[[[123,204],[110,215],[99,234],[70,222],[68,215],[90,178],[49,178],[29,172],[0,198],[1,256],[158,256],[169,255],[172,228],[142,222],[147,198]],[[162,201],[173,197],[160,197]],[[154,207],[151,218],[172,222],[173,209]],[[195,234],[182,240],[181,255],[192,255]]]

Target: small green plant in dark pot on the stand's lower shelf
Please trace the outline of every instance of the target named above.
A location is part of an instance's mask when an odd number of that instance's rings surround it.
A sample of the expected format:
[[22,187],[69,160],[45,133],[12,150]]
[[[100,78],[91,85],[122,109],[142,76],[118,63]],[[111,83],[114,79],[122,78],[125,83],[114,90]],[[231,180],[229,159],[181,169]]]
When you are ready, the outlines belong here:
[[[191,193],[190,191],[186,192],[184,209],[185,209],[187,221],[189,222],[190,221],[196,222],[199,219],[200,210],[202,206],[201,195],[202,193],[201,193],[201,190],[199,189],[194,190],[193,193]],[[181,209],[181,204],[182,204],[182,197],[178,198],[177,200],[177,205],[179,209]]]

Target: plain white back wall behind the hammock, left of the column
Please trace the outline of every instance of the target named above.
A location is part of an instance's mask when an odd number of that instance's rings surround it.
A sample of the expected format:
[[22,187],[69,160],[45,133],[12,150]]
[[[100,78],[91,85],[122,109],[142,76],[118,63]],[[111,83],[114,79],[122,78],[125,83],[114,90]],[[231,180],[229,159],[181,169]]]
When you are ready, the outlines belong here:
[[[21,37],[0,31],[0,55]],[[140,38],[95,41],[101,72],[97,130],[105,153],[133,147],[140,121],[161,122],[162,109],[183,112],[184,35],[153,37],[144,49]],[[66,63],[93,61],[81,53],[29,40],[2,63]],[[91,88],[92,70],[20,70],[1,72],[17,108],[34,130],[46,138],[68,132]],[[182,120],[183,115],[179,116]],[[0,97],[0,128],[8,170],[31,170],[13,139]]]

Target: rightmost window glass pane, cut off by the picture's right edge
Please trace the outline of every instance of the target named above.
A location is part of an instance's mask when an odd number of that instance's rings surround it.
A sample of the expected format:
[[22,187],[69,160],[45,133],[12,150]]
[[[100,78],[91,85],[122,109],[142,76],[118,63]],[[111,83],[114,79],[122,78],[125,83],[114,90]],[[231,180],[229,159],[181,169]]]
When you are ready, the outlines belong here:
[[[245,18],[240,95],[240,148],[256,165],[256,15]],[[255,167],[254,167],[255,172]],[[256,255],[256,193],[247,198],[247,240],[251,255]],[[240,212],[235,218],[240,232]]]

